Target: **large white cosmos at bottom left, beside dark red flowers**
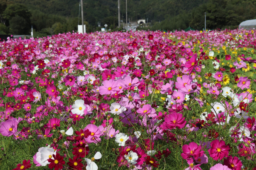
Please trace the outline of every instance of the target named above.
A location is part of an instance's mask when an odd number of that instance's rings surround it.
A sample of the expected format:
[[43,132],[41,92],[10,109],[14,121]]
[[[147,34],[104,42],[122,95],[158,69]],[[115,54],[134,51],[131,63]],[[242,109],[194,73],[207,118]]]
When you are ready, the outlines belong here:
[[47,159],[53,159],[52,155],[56,154],[56,151],[54,151],[53,148],[40,147],[38,149],[38,152],[36,153],[36,161],[38,161],[41,166],[46,166],[47,164],[49,164],[49,161],[47,161]]

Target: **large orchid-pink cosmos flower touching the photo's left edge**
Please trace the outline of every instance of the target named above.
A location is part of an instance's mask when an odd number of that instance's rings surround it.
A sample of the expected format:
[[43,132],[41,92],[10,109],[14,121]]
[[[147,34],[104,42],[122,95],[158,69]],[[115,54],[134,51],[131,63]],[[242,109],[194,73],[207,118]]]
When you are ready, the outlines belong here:
[[3,136],[12,136],[17,132],[17,121],[16,120],[7,120],[0,124],[0,133]]

